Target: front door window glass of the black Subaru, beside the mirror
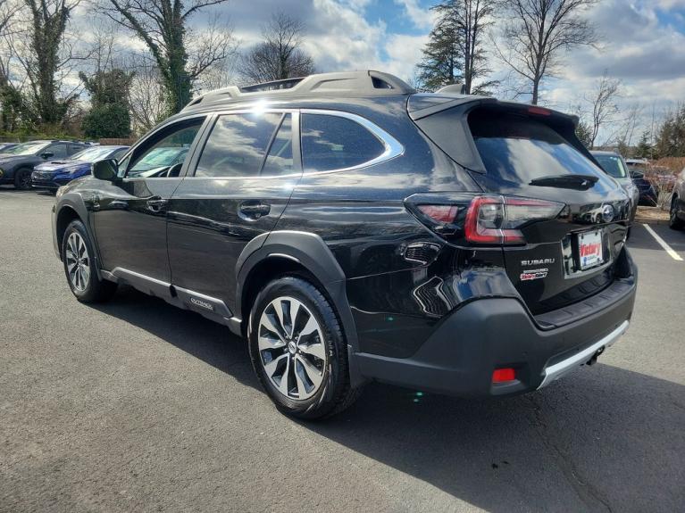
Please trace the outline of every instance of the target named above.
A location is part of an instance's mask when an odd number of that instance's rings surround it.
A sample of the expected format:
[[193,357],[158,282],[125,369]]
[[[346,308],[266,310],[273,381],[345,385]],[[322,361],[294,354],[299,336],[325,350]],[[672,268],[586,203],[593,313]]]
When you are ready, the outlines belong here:
[[137,148],[127,162],[127,178],[178,177],[197,133],[205,118],[180,121],[163,128],[144,145]]

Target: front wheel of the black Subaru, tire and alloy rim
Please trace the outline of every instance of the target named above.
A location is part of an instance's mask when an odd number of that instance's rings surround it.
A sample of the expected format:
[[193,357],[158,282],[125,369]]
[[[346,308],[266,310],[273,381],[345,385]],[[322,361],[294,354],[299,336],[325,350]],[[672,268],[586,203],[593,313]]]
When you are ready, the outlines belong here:
[[71,221],[62,239],[64,275],[79,302],[104,302],[112,298],[117,284],[97,277],[93,244],[79,220]]

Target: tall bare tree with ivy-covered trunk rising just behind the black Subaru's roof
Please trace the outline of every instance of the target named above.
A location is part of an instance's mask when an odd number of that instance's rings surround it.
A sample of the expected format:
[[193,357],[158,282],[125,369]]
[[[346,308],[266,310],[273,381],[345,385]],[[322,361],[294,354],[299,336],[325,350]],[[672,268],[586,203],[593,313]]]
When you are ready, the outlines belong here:
[[190,101],[192,84],[215,62],[222,61],[233,41],[230,32],[188,37],[188,20],[205,7],[226,0],[101,0],[102,11],[131,30],[147,46],[161,74],[169,111]]

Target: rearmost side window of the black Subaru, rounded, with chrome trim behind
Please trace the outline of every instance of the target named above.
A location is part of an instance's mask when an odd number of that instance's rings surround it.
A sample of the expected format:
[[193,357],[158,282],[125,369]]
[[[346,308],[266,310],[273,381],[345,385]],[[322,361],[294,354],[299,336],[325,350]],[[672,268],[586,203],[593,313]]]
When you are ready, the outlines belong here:
[[302,115],[305,171],[342,170],[379,157],[385,146],[362,125],[328,114]]

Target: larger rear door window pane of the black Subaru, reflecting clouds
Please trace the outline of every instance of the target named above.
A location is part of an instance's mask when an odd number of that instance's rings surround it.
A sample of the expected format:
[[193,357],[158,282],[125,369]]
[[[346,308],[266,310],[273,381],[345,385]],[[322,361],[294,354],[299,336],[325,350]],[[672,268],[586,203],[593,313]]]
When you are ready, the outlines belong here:
[[262,169],[279,113],[225,114],[207,137],[196,177],[255,177]]

